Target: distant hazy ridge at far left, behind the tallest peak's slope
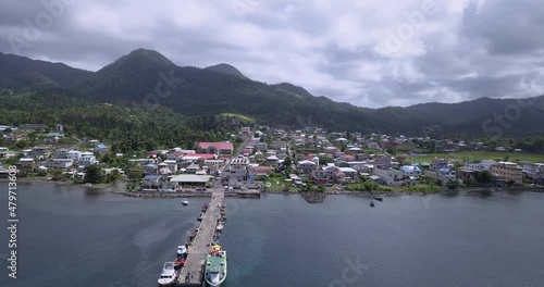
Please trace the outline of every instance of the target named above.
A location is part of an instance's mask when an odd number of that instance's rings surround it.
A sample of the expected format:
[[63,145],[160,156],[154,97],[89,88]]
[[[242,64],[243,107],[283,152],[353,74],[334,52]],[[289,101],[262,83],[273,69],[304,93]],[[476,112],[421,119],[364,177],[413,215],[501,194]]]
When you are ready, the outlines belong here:
[[70,88],[92,72],[0,52],[0,86]]

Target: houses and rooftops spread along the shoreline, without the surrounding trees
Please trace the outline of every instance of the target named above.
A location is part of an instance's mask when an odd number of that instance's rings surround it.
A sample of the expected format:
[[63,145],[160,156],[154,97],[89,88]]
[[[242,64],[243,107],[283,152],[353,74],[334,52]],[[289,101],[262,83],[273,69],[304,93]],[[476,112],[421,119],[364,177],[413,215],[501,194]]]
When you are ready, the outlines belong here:
[[[7,134],[12,140],[24,138],[21,130],[45,129],[42,124],[24,124],[18,129]],[[230,141],[196,142],[195,149],[149,151],[148,157],[131,159],[128,165],[140,165],[144,173],[143,188],[177,188],[186,186],[207,186],[214,178],[223,179],[224,185],[236,186],[255,183],[258,177],[268,176],[274,171],[286,169],[283,164],[294,157],[290,170],[294,183],[312,182],[314,184],[347,184],[359,177],[367,177],[374,183],[388,186],[413,186],[421,177],[436,179],[443,184],[452,180],[475,179],[478,172],[489,172],[497,184],[514,183],[521,185],[524,178],[535,183],[544,182],[544,164],[531,162],[472,161],[453,162],[434,159],[428,163],[409,163],[406,157],[392,157],[390,148],[415,150],[419,145],[430,145],[437,151],[462,151],[487,149],[482,142],[454,142],[430,138],[408,138],[404,136],[362,135],[361,133],[327,134],[320,128],[305,128],[287,132],[282,128],[269,129],[271,137],[263,132],[252,133],[243,127],[239,135],[247,138],[239,155],[234,154],[234,145]],[[267,132],[269,133],[269,132]],[[57,141],[64,136],[62,125],[47,134],[46,141]],[[97,155],[108,152],[108,147],[99,141],[90,141],[95,148],[81,151],[77,149],[52,148],[52,145],[23,150],[23,158],[16,163],[22,171],[60,169],[74,175],[84,176],[85,166],[97,164]],[[509,151],[504,147],[496,151]],[[521,150],[512,150],[521,152]],[[16,157],[21,152],[0,147],[0,159]],[[122,154],[118,154],[122,155]],[[413,154],[412,154],[413,155]],[[325,162],[320,162],[324,160]],[[226,166],[225,166],[226,165]],[[224,173],[220,171],[224,169]]]

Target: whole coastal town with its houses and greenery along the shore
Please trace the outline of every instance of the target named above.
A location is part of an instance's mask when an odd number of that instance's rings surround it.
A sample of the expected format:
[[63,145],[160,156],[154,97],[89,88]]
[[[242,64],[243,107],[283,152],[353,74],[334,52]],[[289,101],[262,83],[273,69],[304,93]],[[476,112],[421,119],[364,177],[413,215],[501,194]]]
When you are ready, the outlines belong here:
[[0,177],[15,165],[21,178],[89,186],[124,180],[128,192],[434,192],[544,184],[542,154],[430,137],[254,125],[224,141],[125,154],[99,139],[70,136],[62,124],[0,132]]

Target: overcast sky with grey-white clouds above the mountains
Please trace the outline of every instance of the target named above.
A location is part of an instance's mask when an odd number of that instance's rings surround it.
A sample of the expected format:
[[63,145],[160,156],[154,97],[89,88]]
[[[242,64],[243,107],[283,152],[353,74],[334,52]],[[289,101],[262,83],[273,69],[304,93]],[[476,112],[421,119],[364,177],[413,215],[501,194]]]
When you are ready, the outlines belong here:
[[137,48],[361,107],[544,93],[541,0],[2,0],[0,51],[97,71]]

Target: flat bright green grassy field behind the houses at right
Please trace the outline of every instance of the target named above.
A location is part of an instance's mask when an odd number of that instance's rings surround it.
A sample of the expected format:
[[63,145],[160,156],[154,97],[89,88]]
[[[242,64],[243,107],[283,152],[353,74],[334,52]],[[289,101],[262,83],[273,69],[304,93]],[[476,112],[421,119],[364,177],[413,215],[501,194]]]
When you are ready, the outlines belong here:
[[480,160],[495,160],[512,162],[544,162],[544,154],[537,153],[520,153],[520,152],[496,152],[496,151],[463,151],[455,153],[424,153],[423,157],[408,157],[407,160],[413,162],[432,162],[434,158],[460,160],[460,161],[480,161]]

